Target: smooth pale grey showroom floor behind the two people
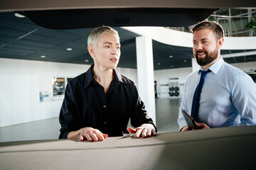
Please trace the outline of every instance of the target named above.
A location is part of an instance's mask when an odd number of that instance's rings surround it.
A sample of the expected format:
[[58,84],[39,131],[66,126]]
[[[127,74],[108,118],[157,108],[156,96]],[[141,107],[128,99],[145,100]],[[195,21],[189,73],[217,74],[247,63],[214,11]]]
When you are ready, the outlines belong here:
[[[156,99],[156,126],[159,133],[178,131],[178,108],[181,99]],[[0,142],[21,140],[54,140],[60,134],[58,118],[38,120],[0,128]]]

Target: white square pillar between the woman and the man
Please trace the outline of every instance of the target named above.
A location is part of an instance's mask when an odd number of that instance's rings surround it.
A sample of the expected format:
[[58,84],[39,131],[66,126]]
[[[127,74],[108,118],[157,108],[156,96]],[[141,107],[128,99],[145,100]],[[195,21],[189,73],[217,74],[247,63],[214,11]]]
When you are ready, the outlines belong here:
[[136,49],[139,96],[145,103],[147,114],[156,125],[153,46],[151,38],[146,36],[137,37]]

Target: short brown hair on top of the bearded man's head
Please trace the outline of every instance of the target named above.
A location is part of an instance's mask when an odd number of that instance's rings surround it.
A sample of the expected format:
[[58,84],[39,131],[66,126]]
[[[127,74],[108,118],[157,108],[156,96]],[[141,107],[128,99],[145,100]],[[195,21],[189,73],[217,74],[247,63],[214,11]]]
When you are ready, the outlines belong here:
[[216,36],[216,40],[220,40],[220,38],[224,37],[224,30],[222,26],[220,26],[220,24],[216,23],[215,21],[202,21],[201,23],[197,23],[191,29],[191,33],[195,33],[196,30],[201,30],[206,28],[213,31],[213,33]]

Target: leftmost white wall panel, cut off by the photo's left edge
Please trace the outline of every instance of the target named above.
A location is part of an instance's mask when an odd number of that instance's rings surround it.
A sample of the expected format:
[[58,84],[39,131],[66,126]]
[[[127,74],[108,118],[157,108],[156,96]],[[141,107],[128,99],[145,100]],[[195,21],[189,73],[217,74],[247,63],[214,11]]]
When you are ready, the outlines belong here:
[[10,75],[0,74],[0,127],[11,125]]

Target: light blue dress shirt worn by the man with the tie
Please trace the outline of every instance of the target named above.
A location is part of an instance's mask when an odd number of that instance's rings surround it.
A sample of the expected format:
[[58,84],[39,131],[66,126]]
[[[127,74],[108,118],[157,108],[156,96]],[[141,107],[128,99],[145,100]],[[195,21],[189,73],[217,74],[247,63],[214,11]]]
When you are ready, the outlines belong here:
[[[256,125],[256,84],[240,69],[224,62],[223,58],[209,68],[200,97],[198,123],[210,128]],[[201,70],[188,75],[178,113],[179,129],[187,125],[181,110],[191,115],[193,94]]]

